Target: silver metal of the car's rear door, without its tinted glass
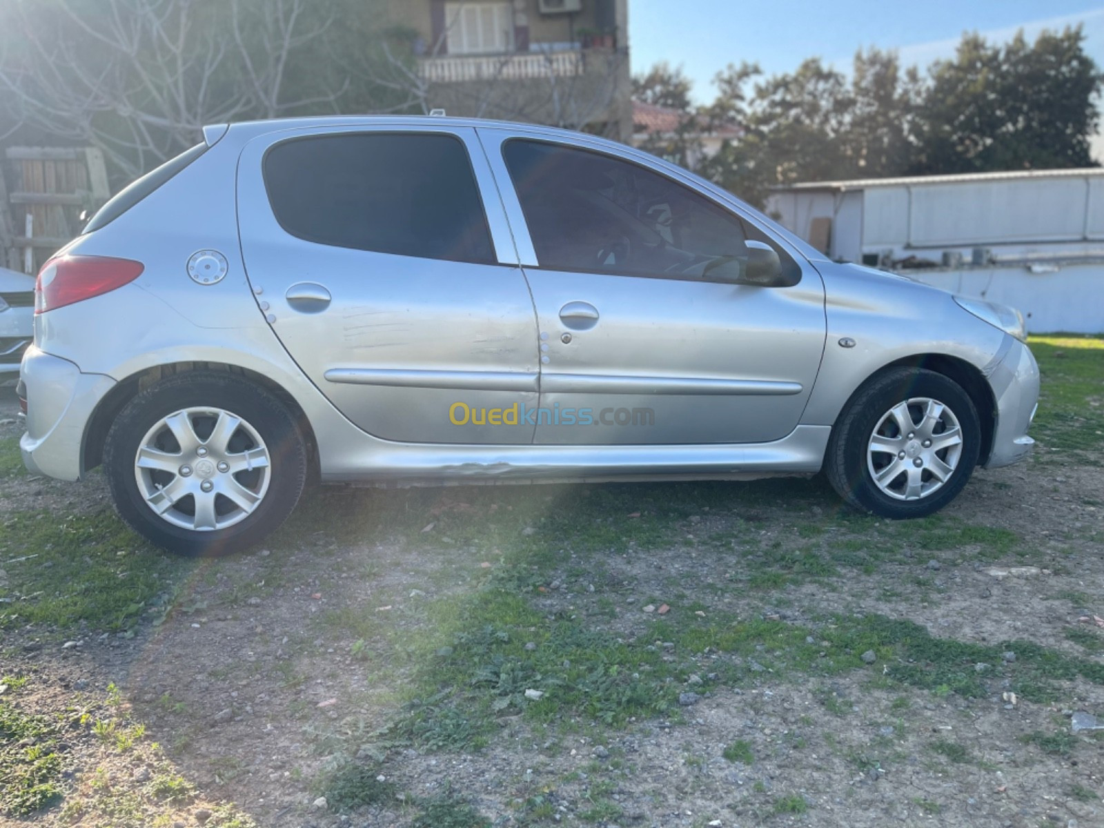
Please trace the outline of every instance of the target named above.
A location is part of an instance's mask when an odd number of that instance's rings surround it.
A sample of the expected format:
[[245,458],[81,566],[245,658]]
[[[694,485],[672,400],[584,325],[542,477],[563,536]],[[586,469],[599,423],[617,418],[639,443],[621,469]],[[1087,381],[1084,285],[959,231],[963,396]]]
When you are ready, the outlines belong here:
[[[444,131],[465,150],[473,146],[473,130]],[[306,140],[317,137],[310,132]],[[535,407],[539,364],[532,300],[497,194],[486,195],[490,177],[481,151],[468,156],[493,251],[488,261],[474,262],[293,235],[269,205],[262,172],[273,144],[279,141],[258,139],[242,155],[240,202],[253,205],[240,212],[242,247],[251,284],[270,306],[273,331],[304,372],[350,421],[383,439],[530,443],[532,424],[491,414]],[[353,164],[359,159],[353,156]],[[355,204],[342,204],[342,215],[355,214]],[[428,221],[442,214],[436,203],[415,208],[427,211]]]

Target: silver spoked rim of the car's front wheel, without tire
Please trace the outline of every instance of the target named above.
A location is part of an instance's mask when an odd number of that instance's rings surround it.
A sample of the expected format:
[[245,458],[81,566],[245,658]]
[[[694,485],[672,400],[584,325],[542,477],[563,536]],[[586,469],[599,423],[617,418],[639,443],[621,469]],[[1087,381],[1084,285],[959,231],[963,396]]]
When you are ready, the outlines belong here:
[[938,400],[917,396],[898,403],[870,435],[867,467],[883,492],[896,500],[920,500],[954,475],[963,450],[954,412]]

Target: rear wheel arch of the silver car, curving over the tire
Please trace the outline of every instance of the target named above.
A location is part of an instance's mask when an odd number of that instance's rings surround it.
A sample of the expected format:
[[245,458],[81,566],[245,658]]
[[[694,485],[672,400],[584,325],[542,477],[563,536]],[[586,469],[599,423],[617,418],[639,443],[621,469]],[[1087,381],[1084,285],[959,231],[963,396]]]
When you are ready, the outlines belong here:
[[309,463],[308,482],[317,481],[319,479],[320,467],[318,440],[315,437],[315,429],[310,424],[310,420],[307,417],[306,412],[304,412],[302,406],[299,405],[298,401],[296,401],[296,399],[288,393],[286,389],[270,378],[247,368],[232,365],[225,362],[172,362],[153,365],[151,368],[142,369],[141,371],[127,376],[114,385],[112,390],[104,395],[104,399],[99,401],[99,404],[93,412],[92,417],[88,420],[88,425],[85,427],[84,440],[81,447],[82,476],[100,465],[103,461],[104,442],[107,438],[107,432],[110,429],[112,423],[114,423],[115,418],[119,415],[119,412],[126,407],[128,402],[159,380],[195,371],[225,371],[231,374],[236,374],[241,376],[243,381],[267,391],[279,400],[291,413],[296,426],[302,435],[304,444],[307,446],[307,457]]

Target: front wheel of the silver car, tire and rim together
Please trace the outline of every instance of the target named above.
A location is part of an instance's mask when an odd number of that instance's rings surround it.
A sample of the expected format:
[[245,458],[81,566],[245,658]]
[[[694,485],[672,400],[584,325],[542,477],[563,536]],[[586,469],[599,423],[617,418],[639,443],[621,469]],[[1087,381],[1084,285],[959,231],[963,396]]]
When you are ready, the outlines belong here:
[[980,423],[958,383],[899,368],[863,385],[828,445],[828,480],[852,506],[885,518],[922,518],[962,491],[977,465]]

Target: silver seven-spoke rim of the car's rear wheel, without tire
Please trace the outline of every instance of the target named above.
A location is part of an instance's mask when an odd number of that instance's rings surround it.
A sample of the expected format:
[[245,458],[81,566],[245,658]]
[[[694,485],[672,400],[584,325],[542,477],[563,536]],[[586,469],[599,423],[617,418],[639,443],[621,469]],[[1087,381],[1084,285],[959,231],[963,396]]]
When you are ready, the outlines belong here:
[[142,437],[135,478],[162,520],[201,532],[225,529],[253,513],[268,491],[268,447],[236,414],[184,408]]

